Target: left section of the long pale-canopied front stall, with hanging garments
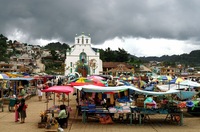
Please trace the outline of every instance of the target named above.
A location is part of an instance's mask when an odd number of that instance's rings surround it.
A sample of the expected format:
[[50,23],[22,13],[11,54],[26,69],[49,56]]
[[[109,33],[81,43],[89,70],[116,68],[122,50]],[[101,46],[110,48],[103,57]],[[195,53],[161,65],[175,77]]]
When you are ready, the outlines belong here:
[[[130,107],[125,107],[129,103],[127,88],[122,87],[100,87],[96,85],[75,86],[74,88],[80,91],[80,99],[78,99],[78,106],[82,112],[82,121],[85,123],[88,117],[96,117],[101,123],[112,123],[115,119],[121,118],[121,115],[131,114]],[[116,95],[126,93],[126,100],[121,104],[124,106],[115,105],[120,99],[116,99]],[[116,106],[116,107],[115,107]],[[114,110],[118,109],[118,110]],[[121,110],[121,111],[120,111]],[[117,114],[119,117],[117,117]],[[107,120],[103,120],[103,119]],[[112,120],[111,120],[112,119]],[[131,119],[129,120],[131,122]]]

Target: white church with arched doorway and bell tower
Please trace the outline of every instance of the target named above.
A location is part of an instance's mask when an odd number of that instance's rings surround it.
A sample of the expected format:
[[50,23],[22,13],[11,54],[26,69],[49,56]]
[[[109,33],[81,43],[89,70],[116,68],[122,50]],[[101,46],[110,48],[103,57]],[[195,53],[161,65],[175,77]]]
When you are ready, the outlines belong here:
[[67,50],[65,59],[65,76],[79,73],[81,76],[100,74],[103,71],[99,51],[91,47],[90,35],[82,33],[75,37],[71,50]]

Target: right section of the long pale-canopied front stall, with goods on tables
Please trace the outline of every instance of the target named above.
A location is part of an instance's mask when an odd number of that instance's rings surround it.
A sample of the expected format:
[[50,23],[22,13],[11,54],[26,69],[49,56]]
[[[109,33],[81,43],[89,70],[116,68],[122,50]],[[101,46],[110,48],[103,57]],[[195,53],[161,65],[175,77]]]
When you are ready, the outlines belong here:
[[[137,112],[139,124],[142,124],[149,115],[165,114],[166,118],[164,121],[170,120],[178,125],[183,125],[183,109],[186,108],[185,102],[177,100],[178,96],[183,96],[179,90],[170,89],[166,92],[153,92],[143,91],[134,87],[126,86],[135,93],[142,95],[136,99],[136,107],[132,108],[132,112]],[[146,98],[145,98],[145,96]],[[152,100],[149,101],[148,98]]]

